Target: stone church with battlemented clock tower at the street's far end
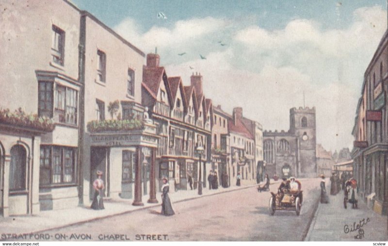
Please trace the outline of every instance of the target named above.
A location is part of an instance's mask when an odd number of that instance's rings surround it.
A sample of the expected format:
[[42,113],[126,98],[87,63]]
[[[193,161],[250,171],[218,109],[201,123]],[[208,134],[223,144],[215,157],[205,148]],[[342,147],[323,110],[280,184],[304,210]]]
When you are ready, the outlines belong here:
[[315,126],[315,107],[299,107],[290,109],[289,131],[264,131],[264,172],[279,177],[317,177]]

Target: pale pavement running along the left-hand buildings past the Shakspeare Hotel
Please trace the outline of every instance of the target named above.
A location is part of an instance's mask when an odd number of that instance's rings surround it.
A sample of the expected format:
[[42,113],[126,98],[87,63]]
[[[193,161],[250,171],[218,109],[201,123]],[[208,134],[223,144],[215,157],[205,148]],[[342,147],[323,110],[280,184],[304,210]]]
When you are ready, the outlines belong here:
[[[271,183],[274,183],[271,180]],[[220,193],[226,193],[246,188],[255,187],[257,184],[231,186],[223,188],[219,186],[217,190],[202,189],[202,196],[198,195],[198,190],[179,190],[170,193],[172,203],[182,202],[186,200],[196,199],[200,197],[212,196]],[[162,193],[158,192],[156,198],[158,203],[147,203],[149,195],[142,197],[144,206],[132,206],[132,199],[107,199],[104,200],[104,210],[92,210],[89,206],[89,201],[85,202],[85,207],[74,207],[63,210],[41,211],[36,215],[10,216],[0,218],[0,231],[2,233],[36,233],[48,229],[62,228],[78,223],[88,222],[96,219],[111,217],[114,215],[131,213],[132,211],[143,210],[155,207],[155,210],[161,209]]]

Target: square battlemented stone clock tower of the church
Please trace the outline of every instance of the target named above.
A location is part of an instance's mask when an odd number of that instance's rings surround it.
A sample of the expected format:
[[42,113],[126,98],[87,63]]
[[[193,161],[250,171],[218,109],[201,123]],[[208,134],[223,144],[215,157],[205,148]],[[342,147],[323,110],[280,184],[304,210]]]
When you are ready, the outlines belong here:
[[317,177],[315,107],[290,109],[290,131],[299,145],[297,168],[300,177]]

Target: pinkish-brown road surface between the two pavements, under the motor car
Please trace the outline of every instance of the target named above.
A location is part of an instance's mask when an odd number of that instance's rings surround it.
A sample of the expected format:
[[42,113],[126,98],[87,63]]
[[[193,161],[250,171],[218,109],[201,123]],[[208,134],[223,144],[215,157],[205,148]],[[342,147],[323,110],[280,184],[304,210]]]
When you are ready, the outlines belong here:
[[[160,215],[158,207],[43,233],[65,235],[63,241],[82,237],[88,241],[302,241],[319,199],[319,182],[302,180],[299,216],[294,211],[276,211],[271,216],[270,193],[250,187],[177,203],[172,200],[176,214],[171,217]],[[275,192],[278,185],[271,185],[270,190]]]

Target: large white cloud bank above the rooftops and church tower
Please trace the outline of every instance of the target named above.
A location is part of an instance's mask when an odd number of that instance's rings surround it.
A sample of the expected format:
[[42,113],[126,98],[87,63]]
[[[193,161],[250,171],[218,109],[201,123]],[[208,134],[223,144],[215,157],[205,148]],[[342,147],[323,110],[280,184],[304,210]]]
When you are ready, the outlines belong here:
[[[214,104],[229,113],[242,106],[244,115],[267,130],[288,130],[289,109],[303,105],[305,91],[306,106],[316,107],[317,142],[334,150],[351,147],[363,73],[387,30],[387,12],[357,9],[344,29],[323,29],[307,19],[291,20],[281,30],[239,28],[237,22],[207,17],[146,33],[126,19],[115,30],[143,50],[157,46],[167,74],[181,76],[186,85],[193,71],[201,72]],[[188,54],[178,57],[182,51]]]

